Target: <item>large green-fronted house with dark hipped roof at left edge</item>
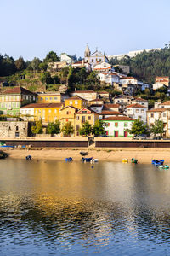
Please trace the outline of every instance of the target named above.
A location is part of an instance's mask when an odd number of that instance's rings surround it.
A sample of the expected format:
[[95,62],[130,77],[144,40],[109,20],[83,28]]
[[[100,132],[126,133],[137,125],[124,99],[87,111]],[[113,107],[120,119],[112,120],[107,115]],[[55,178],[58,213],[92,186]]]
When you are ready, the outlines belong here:
[[36,102],[37,94],[23,87],[14,87],[0,94],[0,113],[18,115],[20,108],[28,103]]

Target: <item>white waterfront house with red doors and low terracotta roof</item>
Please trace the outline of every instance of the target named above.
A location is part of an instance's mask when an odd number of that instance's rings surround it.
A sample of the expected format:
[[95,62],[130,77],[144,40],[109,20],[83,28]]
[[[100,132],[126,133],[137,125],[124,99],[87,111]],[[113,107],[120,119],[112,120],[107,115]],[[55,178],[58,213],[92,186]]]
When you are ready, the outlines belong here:
[[105,135],[110,137],[132,137],[127,132],[133,125],[134,119],[127,116],[111,116],[102,119],[105,127]]

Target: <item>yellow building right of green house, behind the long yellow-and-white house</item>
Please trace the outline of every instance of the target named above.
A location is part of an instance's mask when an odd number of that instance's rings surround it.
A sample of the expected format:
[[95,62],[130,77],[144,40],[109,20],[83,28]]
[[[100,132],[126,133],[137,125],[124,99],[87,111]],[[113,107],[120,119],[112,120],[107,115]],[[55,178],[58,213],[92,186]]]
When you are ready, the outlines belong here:
[[60,92],[37,94],[37,103],[60,103],[63,101],[64,95]]

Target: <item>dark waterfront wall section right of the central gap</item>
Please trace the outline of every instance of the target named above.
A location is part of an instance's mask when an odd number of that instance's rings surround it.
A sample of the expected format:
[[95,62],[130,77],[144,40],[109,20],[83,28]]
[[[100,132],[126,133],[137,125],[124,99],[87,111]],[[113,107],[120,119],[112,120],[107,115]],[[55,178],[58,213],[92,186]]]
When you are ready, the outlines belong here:
[[170,140],[119,140],[96,137],[95,148],[170,148]]

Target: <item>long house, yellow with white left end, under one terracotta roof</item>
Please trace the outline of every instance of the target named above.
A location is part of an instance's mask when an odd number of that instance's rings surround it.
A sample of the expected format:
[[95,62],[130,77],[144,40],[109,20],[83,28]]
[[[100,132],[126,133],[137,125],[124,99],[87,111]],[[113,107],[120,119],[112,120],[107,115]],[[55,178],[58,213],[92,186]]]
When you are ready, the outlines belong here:
[[[42,120],[43,124],[54,122],[59,119],[59,110],[64,107],[64,103],[42,103],[29,104],[20,108],[20,113],[28,120]],[[28,118],[30,116],[30,119]]]

